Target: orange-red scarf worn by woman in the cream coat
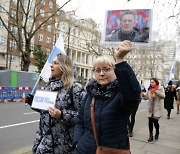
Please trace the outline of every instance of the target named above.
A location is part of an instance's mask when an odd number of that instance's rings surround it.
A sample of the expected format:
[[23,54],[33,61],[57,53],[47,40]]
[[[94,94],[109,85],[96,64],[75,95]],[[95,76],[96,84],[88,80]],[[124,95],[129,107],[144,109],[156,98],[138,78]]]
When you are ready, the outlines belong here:
[[155,100],[155,91],[159,89],[159,85],[156,85],[155,87],[149,87],[148,90],[150,91],[150,99],[149,99],[149,109],[148,112],[153,113],[154,109],[154,100]]

